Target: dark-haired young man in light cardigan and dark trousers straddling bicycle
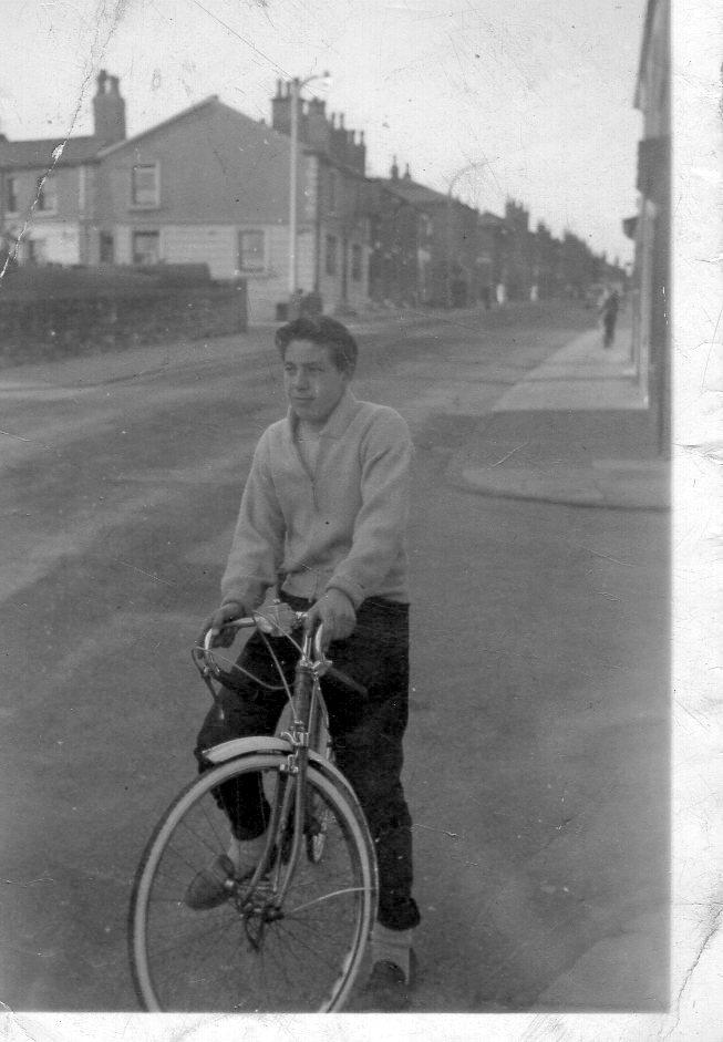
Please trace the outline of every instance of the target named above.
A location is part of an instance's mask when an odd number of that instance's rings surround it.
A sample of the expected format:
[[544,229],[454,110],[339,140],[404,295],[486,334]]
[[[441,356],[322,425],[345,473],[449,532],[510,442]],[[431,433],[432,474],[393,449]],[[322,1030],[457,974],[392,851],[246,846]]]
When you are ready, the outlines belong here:
[[[420,920],[400,777],[407,721],[404,540],[412,442],[399,413],[358,401],[350,391],[357,343],[340,322],[301,317],[278,330],[276,344],[289,410],[257,445],[221,580],[223,602],[209,625],[214,641],[228,644],[225,623],[249,615],[276,589],[292,608],[309,612],[310,627],[323,623],[334,666],[368,689],[369,701],[360,708],[348,690],[323,682],[337,764],[364,808],[380,868],[373,969],[363,1002],[368,1009],[402,1010],[409,1004],[412,930]],[[290,669],[288,642],[279,641],[275,650]],[[260,639],[251,637],[238,661],[273,682]],[[202,770],[204,749],[272,733],[283,701],[283,693],[251,681],[237,691],[224,689],[224,720],[211,709],[198,735]],[[240,795],[245,819],[231,822],[228,855],[192,881],[186,902],[193,908],[220,904],[229,873],[248,871],[262,848],[262,815],[254,814],[252,793]],[[225,803],[238,805],[235,798]]]

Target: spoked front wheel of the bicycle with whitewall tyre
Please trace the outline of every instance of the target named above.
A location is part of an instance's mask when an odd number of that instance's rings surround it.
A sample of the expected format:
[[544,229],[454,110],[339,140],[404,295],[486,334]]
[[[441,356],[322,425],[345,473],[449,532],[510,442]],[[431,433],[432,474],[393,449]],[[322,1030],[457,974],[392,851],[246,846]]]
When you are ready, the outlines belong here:
[[375,864],[351,793],[309,766],[307,799],[323,809],[324,852],[303,854],[286,898],[270,914],[262,885],[242,883],[207,910],[186,904],[190,880],[226,853],[230,829],[214,790],[259,784],[269,804],[288,783],[283,753],[252,753],[203,774],[158,823],[136,875],[131,960],[152,1011],[329,1012],[347,1001],[375,914]]

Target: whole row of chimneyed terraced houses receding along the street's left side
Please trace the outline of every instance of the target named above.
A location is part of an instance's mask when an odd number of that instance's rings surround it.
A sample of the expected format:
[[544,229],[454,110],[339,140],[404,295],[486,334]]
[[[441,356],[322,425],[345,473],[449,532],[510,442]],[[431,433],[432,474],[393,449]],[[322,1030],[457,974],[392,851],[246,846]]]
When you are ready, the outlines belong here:
[[369,177],[363,133],[289,82],[277,82],[270,123],[211,95],[133,137],[117,78],[102,71],[96,83],[92,135],[0,135],[0,267],[8,256],[63,266],[206,264],[214,279],[246,280],[250,323],[280,319],[297,291],[340,313],[372,301],[582,297],[606,267],[570,234],[560,241],[544,225],[531,231],[527,209],[512,199],[504,216],[479,214],[414,180],[409,165],[400,176],[396,159],[389,177]]

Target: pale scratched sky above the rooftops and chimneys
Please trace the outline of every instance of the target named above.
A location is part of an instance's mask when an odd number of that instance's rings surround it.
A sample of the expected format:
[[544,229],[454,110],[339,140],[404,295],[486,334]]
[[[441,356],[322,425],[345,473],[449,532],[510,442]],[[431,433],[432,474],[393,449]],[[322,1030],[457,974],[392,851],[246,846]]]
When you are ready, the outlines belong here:
[[[270,118],[277,78],[327,69],[328,111],[431,187],[506,196],[556,235],[632,258],[644,0],[2,0],[0,130],[92,133],[94,76],[121,79],[128,134],[208,94]],[[223,24],[225,23],[225,24]],[[311,85],[313,87],[313,84]],[[308,96],[308,93],[307,93]]]

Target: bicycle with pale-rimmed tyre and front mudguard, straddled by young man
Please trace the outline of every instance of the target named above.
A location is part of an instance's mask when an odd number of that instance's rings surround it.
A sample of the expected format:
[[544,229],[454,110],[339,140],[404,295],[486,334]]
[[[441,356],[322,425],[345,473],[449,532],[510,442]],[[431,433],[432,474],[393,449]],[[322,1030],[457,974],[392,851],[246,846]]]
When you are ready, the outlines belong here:
[[[131,966],[142,1005],[162,1011],[332,1012],[348,1001],[376,915],[374,845],[359,801],[333,764],[320,677],[333,670],[321,627],[298,643],[306,616],[277,603],[229,623],[287,636],[299,651],[293,691],[267,641],[291,708],[288,730],[205,751],[214,766],[187,785],[159,819],[141,859],[130,910]],[[290,613],[290,615],[289,615]],[[293,618],[291,618],[291,616]],[[214,699],[234,685],[211,652],[193,649]],[[234,667],[238,669],[238,667]],[[250,875],[229,877],[226,899],[189,908],[190,879],[228,845],[219,785],[257,786],[268,805],[264,852]],[[228,788],[228,786],[227,786]]]

